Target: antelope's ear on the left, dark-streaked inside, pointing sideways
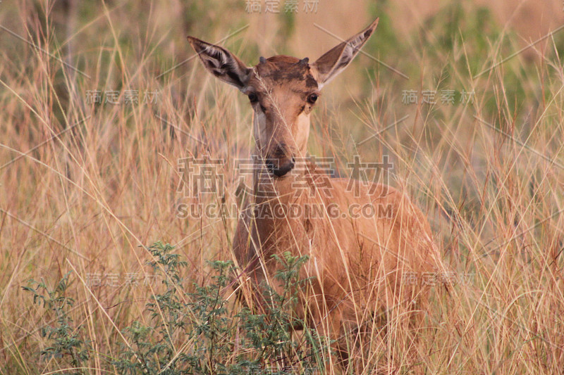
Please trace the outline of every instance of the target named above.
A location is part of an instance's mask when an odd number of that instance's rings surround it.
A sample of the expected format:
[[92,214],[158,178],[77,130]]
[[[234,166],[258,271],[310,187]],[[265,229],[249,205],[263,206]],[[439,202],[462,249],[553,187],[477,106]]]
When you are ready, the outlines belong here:
[[204,67],[214,76],[223,82],[233,84],[239,90],[247,86],[252,68],[248,68],[233,53],[195,37],[188,37],[188,42],[200,57]]

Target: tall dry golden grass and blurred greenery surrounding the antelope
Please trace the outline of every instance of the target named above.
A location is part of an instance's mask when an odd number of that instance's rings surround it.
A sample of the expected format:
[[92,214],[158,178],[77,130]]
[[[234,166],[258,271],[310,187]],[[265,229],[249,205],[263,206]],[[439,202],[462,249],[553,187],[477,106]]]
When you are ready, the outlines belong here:
[[[324,89],[309,152],[335,157],[345,175],[355,154],[390,155],[392,184],[429,215],[445,263],[473,275],[436,301],[436,333],[417,343],[424,355],[412,371],[562,371],[560,1],[319,0],[309,13],[300,0],[297,13],[281,1],[278,14],[246,3],[1,1],[1,373],[63,368],[39,360],[38,327],[53,317],[21,290],[30,278],[54,283],[75,270],[73,317],[93,342],[90,366],[112,371],[104,355],[118,329],[144,319],[155,293],[125,281],[150,271],[140,246],[176,244],[199,284],[209,280],[205,260],[233,258],[235,217],[185,219],[176,208],[236,202],[235,159],[252,150],[252,113],[192,58],[188,34],[216,42],[239,30],[222,44],[249,65],[278,53],[313,60],[339,42],[322,29],[344,39],[376,17],[364,48],[372,57],[361,54]],[[103,103],[90,103],[94,90]],[[109,90],[119,104],[105,103]],[[125,103],[130,90],[139,103]],[[422,102],[424,90],[436,103]],[[443,90],[454,103],[441,101]],[[407,91],[416,103],[405,103]],[[462,103],[463,92],[473,100]],[[225,197],[177,192],[178,159],[188,157],[225,160]]]

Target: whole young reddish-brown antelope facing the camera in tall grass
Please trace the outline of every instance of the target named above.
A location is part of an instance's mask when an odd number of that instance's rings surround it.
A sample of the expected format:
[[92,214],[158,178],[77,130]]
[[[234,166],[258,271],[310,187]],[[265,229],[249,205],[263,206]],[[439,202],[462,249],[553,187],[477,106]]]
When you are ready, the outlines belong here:
[[[247,197],[233,242],[245,270],[238,279],[241,288],[250,303],[261,307],[266,301],[257,286],[268,282],[281,288],[272,279],[281,267],[272,255],[308,255],[301,276],[314,278],[301,291],[296,313],[333,339],[377,311],[418,308],[425,293],[419,284],[403,282],[404,275],[416,274],[421,281],[424,272],[439,265],[429,224],[404,193],[357,182],[360,193],[354,194],[349,179],[331,179],[313,163],[303,162],[312,94],[319,95],[352,61],[376,24],[312,64],[274,56],[248,68],[222,47],[189,37],[208,70],[249,95],[255,110],[255,190]],[[272,174],[275,169],[268,165],[275,163],[286,170]],[[351,207],[364,205],[372,205],[376,215],[350,215]],[[320,209],[306,212],[308,206]],[[302,213],[292,215],[293,208],[302,208]]]

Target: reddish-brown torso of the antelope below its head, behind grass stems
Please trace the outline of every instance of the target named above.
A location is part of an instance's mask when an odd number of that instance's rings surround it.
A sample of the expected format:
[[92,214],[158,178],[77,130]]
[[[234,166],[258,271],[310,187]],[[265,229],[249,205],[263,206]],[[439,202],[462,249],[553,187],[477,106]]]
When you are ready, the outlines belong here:
[[[436,269],[437,251],[422,212],[390,186],[378,184],[369,195],[373,186],[361,185],[361,194],[355,197],[347,192],[349,179],[329,179],[313,165],[303,173],[265,184],[262,191],[268,186],[275,198],[256,197],[243,211],[233,250],[241,267],[259,259],[245,272],[252,288],[280,267],[272,255],[286,251],[309,255],[301,276],[315,279],[311,290],[302,295],[309,309],[309,316],[302,318],[321,324],[332,338],[341,334],[342,321],[358,323],[382,308],[422,302],[424,294],[418,284],[402,283],[404,274],[413,272],[420,281],[424,272]],[[296,181],[301,186],[298,189],[291,187]],[[348,212],[353,204],[372,204],[376,212],[382,207],[384,215],[351,217]],[[327,209],[324,215],[281,218],[275,214],[278,207],[292,205],[314,207],[312,212],[317,207]],[[253,212],[262,218],[255,218]],[[271,285],[277,287],[276,282]]]

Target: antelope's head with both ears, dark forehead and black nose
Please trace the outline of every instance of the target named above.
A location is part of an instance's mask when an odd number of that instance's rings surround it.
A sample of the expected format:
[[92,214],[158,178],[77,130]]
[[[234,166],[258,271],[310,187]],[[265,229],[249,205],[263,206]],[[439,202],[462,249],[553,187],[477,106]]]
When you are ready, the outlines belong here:
[[255,111],[257,150],[267,170],[279,178],[293,170],[296,158],[305,156],[309,114],[319,90],[353,60],[377,24],[376,19],[311,65],[308,58],[273,56],[260,58],[259,64],[247,67],[221,46],[194,37],[188,37],[188,41],[209,72],[249,97]]

